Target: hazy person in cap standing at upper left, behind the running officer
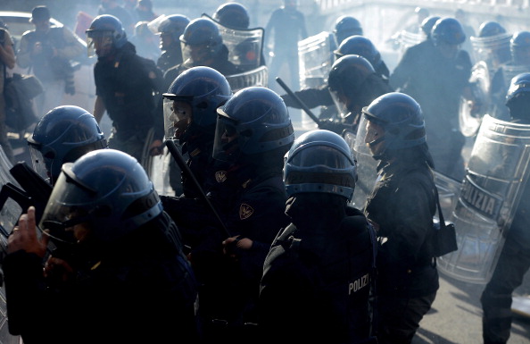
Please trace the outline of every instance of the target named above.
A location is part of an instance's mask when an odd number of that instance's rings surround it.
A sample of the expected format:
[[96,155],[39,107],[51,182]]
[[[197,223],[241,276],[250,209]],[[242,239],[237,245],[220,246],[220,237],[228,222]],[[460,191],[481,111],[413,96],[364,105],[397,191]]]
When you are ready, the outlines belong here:
[[36,98],[37,118],[63,105],[64,93],[75,93],[70,60],[85,49],[70,29],[55,27],[50,18],[46,6],[33,8],[29,21],[35,29],[24,32],[16,55],[19,67],[30,68],[43,84],[44,92]]

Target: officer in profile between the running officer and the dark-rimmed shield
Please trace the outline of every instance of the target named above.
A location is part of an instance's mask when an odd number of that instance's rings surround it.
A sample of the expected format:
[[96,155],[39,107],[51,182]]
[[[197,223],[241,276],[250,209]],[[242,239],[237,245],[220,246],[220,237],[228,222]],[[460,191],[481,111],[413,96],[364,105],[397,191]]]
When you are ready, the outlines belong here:
[[171,14],[158,26],[161,56],[156,65],[161,71],[167,71],[182,63],[180,35],[186,29],[187,24],[189,24],[189,19],[185,15]]

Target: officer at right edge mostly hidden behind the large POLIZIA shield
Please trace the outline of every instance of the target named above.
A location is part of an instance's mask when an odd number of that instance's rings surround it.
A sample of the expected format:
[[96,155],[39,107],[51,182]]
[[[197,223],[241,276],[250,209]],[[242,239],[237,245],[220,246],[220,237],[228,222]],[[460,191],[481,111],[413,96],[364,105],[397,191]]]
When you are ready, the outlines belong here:
[[[510,122],[530,125],[530,73],[518,74],[511,80],[506,94],[506,106],[509,108]],[[506,159],[509,158],[509,155],[506,156]],[[500,164],[513,162],[507,160]],[[530,183],[527,181],[519,199],[509,230],[503,232],[506,233],[506,240],[501,256],[480,298],[484,312],[484,344],[506,343],[509,340],[512,293],[523,283],[523,277],[530,268]]]

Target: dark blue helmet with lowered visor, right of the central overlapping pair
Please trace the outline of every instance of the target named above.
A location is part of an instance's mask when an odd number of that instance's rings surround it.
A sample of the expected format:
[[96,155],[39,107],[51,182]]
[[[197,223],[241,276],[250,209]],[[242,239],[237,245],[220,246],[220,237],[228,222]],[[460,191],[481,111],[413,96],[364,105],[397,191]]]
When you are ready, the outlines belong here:
[[281,158],[294,141],[294,129],[286,104],[269,88],[243,88],[217,109],[213,156],[238,161],[240,156],[255,164],[264,153]]

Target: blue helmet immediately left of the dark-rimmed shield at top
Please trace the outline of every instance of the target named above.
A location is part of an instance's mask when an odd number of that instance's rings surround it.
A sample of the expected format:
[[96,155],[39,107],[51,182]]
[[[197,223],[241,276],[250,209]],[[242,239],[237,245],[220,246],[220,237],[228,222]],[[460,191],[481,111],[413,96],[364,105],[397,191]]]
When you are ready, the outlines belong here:
[[187,24],[180,36],[184,61],[191,59],[195,64],[214,58],[223,46],[219,27],[208,18],[196,18]]

